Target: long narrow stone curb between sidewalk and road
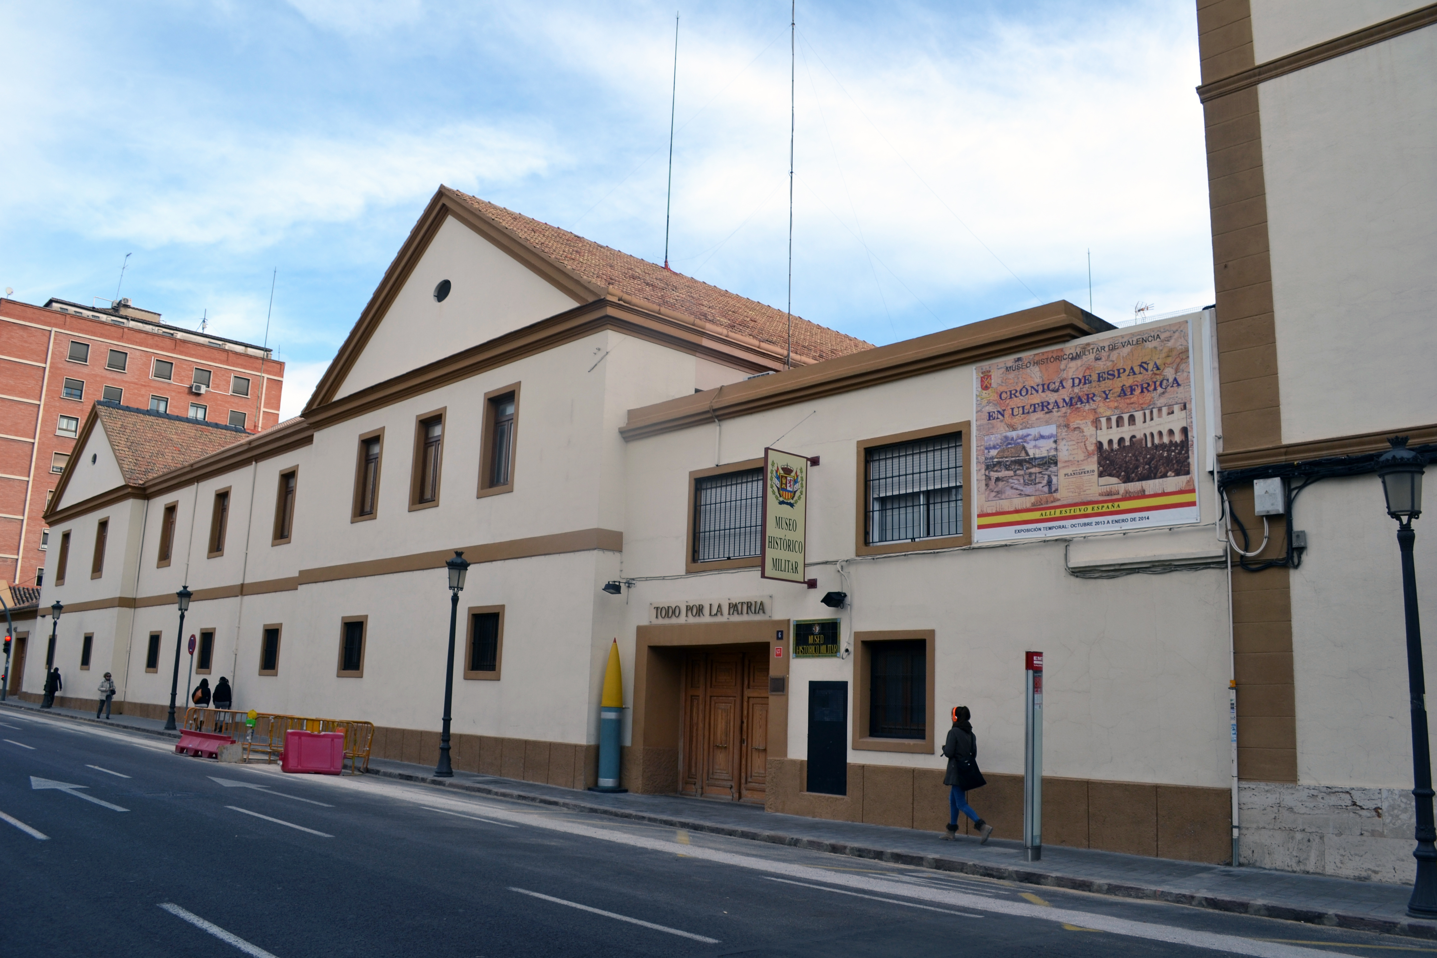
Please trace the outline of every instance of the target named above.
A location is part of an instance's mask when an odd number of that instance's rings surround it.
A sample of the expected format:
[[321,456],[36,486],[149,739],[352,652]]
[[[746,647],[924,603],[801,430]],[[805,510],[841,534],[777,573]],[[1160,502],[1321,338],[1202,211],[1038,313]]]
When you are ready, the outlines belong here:
[[726,837],[746,839],[750,842],[786,845],[789,847],[803,849],[808,852],[828,852],[831,855],[846,855],[849,857],[868,859],[874,862],[890,862],[892,865],[904,865],[908,868],[925,868],[937,872],[957,872],[961,875],[993,878],[1006,882],[1016,882],[1020,885],[1039,885],[1046,888],[1061,888],[1073,892],[1111,895],[1114,898],[1157,901],[1157,902],[1167,902],[1170,905],[1188,905],[1191,908],[1206,908],[1217,912],[1232,912],[1236,915],[1279,918],[1283,921],[1303,922],[1309,925],[1323,925],[1328,928],[1346,928],[1351,931],[1378,932],[1384,935],[1404,935],[1408,938],[1424,938],[1430,941],[1437,941],[1437,922],[1404,921],[1394,918],[1381,918],[1367,913],[1325,911],[1321,908],[1299,908],[1296,905],[1266,902],[1262,899],[1236,898],[1229,895],[1203,895],[1197,892],[1186,892],[1186,890],[1163,888],[1160,885],[1141,885],[1135,882],[1112,882],[1102,879],[1081,878],[1076,875],[1046,872],[1043,869],[1036,869],[1036,868],[1015,868],[1007,865],[971,862],[966,859],[946,857],[938,855],[895,852],[892,849],[881,849],[867,845],[855,845],[849,842],[808,839],[795,834],[783,834],[779,832],[766,832],[762,829],[744,829],[727,824],[714,824],[711,822],[701,822],[696,819],[680,819],[675,816],[654,814],[648,811],[614,809],[609,806],[579,801],[575,799],[558,799],[552,796],[540,796],[527,791],[516,791],[512,789],[484,786],[479,783],[454,781],[453,778],[434,778],[433,776],[417,776],[407,771],[392,771],[388,768],[369,768],[368,774],[381,776],[384,778],[397,778],[401,781],[414,781],[427,786],[438,786],[443,789],[456,789],[458,791],[470,791],[474,794],[491,796],[496,799],[510,799],[514,801],[527,801],[530,804],[552,806],[569,811],[588,811],[595,814],[606,814],[609,817],[628,819],[631,822],[642,822],[645,824],[662,824],[667,827],[687,829],[688,832],[706,832],[708,834],[721,834]]

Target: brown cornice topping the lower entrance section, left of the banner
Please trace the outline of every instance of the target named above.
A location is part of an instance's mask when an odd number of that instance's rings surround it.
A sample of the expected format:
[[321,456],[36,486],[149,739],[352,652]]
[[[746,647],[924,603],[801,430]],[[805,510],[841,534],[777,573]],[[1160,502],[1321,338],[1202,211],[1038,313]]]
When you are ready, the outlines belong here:
[[773,376],[629,409],[628,424],[619,434],[628,441],[642,440],[711,424],[714,419],[731,419],[1009,353],[1056,346],[1105,332],[1104,326],[1106,323],[1098,317],[1059,300],[812,366],[787,369]]

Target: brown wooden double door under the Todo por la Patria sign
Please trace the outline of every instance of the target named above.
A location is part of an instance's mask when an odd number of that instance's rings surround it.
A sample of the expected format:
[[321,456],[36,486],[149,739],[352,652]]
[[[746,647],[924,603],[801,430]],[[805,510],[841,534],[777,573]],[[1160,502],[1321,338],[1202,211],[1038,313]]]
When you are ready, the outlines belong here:
[[680,791],[762,803],[769,768],[769,648],[691,649],[683,685]]

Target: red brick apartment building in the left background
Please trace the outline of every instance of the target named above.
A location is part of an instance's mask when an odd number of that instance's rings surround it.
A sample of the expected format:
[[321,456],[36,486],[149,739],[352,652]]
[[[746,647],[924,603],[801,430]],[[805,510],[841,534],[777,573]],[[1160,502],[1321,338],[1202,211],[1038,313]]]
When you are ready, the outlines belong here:
[[42,585],[40,517],[96,399],[259,432],[279,422],[283,379],[269,349],[162,323],[128,299],[0,299],[0,582]]

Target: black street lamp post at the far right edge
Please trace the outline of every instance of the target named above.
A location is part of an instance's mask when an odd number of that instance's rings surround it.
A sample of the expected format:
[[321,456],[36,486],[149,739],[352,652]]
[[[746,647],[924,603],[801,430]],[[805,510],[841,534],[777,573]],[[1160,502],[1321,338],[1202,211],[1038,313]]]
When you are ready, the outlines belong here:
[[1403,554],[1403,612],[1407,619],[1407,688],[1413,707],[1413,797],[1417,800],[1417,880],[1407,902],[1413,918],[1437,918],[1437,826],[1433,823],[1433,761],[1427,741],[1427,682],[1423,678],[1423,633],[1417,620],[1417,566],[1413,520],[1423,514],[1423,457],[1407,448],[1407,437],[1377,460],[1387,514],[1397,520],[1397,547]]

